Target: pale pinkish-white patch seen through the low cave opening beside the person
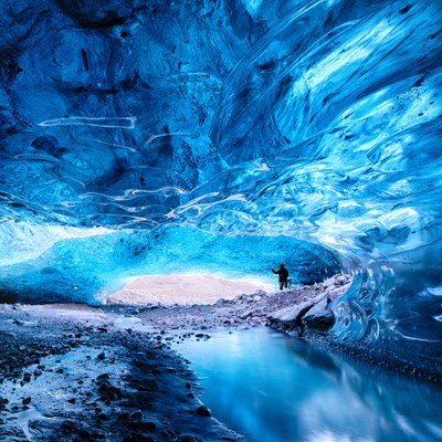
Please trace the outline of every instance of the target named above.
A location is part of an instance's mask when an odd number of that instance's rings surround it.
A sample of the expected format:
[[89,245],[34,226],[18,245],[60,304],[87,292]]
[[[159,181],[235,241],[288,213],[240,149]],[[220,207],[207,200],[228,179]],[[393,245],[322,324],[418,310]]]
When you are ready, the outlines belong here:
[[241,294],[270,292],[271,284],[259,281],[227,280],[207,274],[147,275],[129,281],[106,298],[106,304],[213,304]]

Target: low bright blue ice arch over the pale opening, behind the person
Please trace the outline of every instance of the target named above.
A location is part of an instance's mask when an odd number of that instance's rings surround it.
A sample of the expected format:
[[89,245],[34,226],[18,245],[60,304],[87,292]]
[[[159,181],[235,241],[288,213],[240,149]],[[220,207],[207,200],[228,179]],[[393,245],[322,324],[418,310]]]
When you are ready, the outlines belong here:
[[[294,253],[296,251],[296,253]],[[277,278],[271,266],[284,261],[294,282],[311,284],[339,271],[329,251],[290,236],[219,236],[168,227],[154,232],[120,230],[59,240],[40,256],[0,266],[2,296],[22,303],[101,304],[139,275],[204,273],[231,278]]]

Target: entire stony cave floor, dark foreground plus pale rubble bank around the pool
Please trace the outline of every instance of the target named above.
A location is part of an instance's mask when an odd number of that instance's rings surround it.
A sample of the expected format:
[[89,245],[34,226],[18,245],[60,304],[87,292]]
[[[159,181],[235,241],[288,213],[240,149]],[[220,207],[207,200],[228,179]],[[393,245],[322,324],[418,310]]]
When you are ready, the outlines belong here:
[[265,325],[333,347],[328,305],[350,283],[213,305],[0,305],[0,440],[242,441],[210,415],[172,347]]

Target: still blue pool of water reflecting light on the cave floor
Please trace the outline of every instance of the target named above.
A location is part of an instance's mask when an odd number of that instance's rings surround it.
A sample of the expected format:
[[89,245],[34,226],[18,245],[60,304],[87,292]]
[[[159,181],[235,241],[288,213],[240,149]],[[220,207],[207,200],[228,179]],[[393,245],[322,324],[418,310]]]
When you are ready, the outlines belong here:
[[442,388],[403,379],[266,328],[177,350],[212,415],[252,442],[442,441]]

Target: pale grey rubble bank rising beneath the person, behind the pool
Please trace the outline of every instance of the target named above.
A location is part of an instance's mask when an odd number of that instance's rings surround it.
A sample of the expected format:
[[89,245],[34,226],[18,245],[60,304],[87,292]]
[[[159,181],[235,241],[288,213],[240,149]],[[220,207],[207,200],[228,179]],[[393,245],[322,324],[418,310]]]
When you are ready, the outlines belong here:
[[[271,324],[303,328],[327,328],[332,325],[330,301],[343,295],[350,285],[348,276],[337,275],[324,283],[294,287],[266,294],[256,292],[252,295],[239,295],[234,299],[219,299],[213,305],[175,305],[158,304],[146,307],[106,306],[105,311],[118,315],[129,315],[135,327],[146,327],[164,333],[189,330],[209,330],[218,327],[257,327]],[[307,312],[315,306],[316,314]],[[146,329],[145,328],[145,329]],[[185,338],[186,334],[181,335]]]

